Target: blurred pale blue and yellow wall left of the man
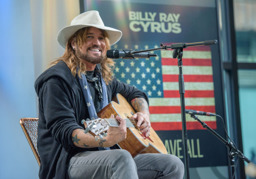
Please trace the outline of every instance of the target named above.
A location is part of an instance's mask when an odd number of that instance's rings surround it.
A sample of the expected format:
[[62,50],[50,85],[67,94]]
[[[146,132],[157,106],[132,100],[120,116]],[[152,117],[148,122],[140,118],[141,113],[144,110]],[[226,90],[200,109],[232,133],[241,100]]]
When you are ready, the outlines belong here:
[[35,79],[62,56],[57,34],[78,14],[79,0],[0,1],[0,178],[38,178],[19,119],[38,117]]

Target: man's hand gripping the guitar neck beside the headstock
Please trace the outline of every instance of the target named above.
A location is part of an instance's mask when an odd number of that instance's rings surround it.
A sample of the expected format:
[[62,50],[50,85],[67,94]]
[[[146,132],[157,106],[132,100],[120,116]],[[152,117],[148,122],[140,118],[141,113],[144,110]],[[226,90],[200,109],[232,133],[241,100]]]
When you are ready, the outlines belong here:
[[[114,118],[114,114],[111,114],[110,118]],[[105,137],[106,141],[104,143],[109,147],[126,139],[126,121],[120,116],[116,116],[116,119],[120,122],[119,127],[110,126],[107,131],[108,135]]]

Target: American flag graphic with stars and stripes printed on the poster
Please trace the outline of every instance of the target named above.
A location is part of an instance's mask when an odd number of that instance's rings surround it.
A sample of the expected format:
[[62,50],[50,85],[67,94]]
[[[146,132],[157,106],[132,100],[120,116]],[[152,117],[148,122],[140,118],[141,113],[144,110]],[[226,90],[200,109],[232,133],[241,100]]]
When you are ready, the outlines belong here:
[[[115,44],[115,49],[143,50],[158,48],[156,44]],[[164,43],[171,45],[174,43]],[[149,97],[150,121],[155,131],[182,130],[178,60],[172,49],[156,50],[149,59],[115,59],[114,75],[119,81],[136,86]],[[215,113],[211,51],[209,46],[193,46],[183,50],[185,108]],[[216,117],[198,116],[212,129]],[[205,129],[186,114],[187,130]]]

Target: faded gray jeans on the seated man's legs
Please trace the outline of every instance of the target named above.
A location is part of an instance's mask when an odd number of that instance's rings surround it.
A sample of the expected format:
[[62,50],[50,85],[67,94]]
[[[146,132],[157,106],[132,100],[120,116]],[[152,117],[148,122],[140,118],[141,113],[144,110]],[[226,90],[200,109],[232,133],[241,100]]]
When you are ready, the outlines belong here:
[[170,154],[139,154],[132,158],[123,149],[85,151],[70,159],[70,179],[80,178],[183,178],[184,164]]

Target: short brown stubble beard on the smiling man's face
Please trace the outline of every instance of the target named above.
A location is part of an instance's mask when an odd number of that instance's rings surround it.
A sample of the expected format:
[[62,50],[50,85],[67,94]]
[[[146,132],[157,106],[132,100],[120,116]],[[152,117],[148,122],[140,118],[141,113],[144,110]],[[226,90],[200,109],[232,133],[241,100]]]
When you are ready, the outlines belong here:
[[89,55],[88,53],[89,49],[87,49],[87,53],[83,53],[80,48],[76,47],[76,55],[78,58],[81,59],[82,62],[89,62],[89,63],[92,63],[92,64],[98,64],[98,63],[101,63],[102,61],[104,61],[104,59],[106,58],[106,54],[103,55]]

